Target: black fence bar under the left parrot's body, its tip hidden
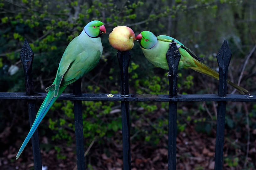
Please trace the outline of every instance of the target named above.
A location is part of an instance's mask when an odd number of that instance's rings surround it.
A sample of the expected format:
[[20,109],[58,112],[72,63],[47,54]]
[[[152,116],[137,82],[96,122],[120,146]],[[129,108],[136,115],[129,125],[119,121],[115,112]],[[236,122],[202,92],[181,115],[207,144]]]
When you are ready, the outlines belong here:
[[[73,83],[73,94],[82,95],[81,78]],[[82,101],[74,100],[74,118],[77,147],[77,170],[85,170],[84,145],[83,145],[83,112]]]

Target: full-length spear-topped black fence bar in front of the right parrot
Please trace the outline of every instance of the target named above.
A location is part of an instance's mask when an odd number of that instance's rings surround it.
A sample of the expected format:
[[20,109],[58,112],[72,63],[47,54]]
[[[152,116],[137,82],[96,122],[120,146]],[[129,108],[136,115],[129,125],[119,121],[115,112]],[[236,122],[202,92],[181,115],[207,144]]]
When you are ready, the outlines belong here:
[[[180,53],[174,40],[166,53],[169,66],[169,97],[177,95],[177,77]],[[176,169],[177,102],[169,102],[168,121],[168,170]]]

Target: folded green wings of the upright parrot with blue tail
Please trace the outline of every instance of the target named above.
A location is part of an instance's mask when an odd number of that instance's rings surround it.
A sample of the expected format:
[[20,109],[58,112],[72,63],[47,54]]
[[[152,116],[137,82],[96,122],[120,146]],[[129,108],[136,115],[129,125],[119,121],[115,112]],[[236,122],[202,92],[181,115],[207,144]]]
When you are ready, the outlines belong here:
[[[93,64],[87,65],[87,67],[81,63],[87,62],[90,60],[89,58],[99,60],[100,55],[101,53],[99,50],[84,49],[79,42],[79,39],[77,37],[74,38],[63,53],[54,82],[45,90],[54,90],[54,96],[56,97],[59,93],[60,87],[67,86],[75,82],[85,73],[88,73],[93,69],[99,61],[95,61],[95,64],[92,62]],[[88,63],[91,62],[88,61]]]

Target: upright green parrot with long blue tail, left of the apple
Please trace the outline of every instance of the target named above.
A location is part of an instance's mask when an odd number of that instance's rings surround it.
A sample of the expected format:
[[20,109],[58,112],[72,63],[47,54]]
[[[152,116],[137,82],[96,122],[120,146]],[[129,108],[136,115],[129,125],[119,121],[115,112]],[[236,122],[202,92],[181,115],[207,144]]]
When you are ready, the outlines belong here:
[[56,78],[52,85],[45,89],[48,93],[36,115],[29,134],[17,153],[16,159],[19,158],[39,123],[67,85],[81,78],[99,63],[103,50],[100,36],[104,33],[106,33],[106,28],[102,22],[91,21],[86,24],[81,34],[68,44],[59,63]]

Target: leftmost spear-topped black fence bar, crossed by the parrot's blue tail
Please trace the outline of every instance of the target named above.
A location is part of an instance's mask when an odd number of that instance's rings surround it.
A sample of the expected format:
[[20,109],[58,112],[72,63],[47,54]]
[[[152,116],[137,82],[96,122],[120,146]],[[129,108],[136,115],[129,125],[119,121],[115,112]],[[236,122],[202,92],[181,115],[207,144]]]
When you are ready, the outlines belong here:
[[[33,63],[34,53],[26,39],[24,40],[24,44],[22,46],[19,56],[23,64],[23,69],[25,74],[26,93],[27,95],[33,95],[34,83],[33,83],[33,77],[32,77],[32,63]],[[29,112],[29,124],[31,128],[33,122],[35,121],[35,115],[36,115],[35,100],[27,100],[27,103],[28,103],[28,112]],[[38,130],[36,130],[33,136],[31,137],[31,142],[32,142],[32,148],[33,148],[35,170],[42,170]]]

